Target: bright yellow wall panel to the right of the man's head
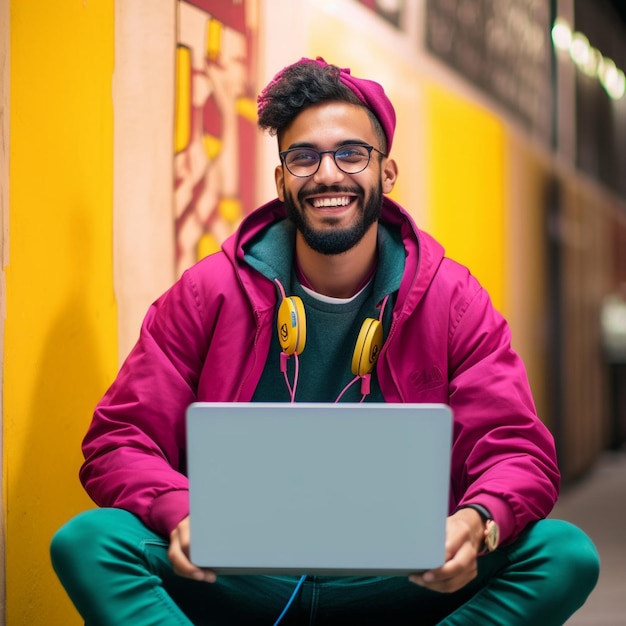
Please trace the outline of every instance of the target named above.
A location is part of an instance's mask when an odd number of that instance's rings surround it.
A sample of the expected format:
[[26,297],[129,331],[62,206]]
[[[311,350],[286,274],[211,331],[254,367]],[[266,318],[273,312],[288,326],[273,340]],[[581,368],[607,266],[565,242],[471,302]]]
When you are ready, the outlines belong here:
[[428,230],[507,315],[505,130],[495,114],[425,86]]

